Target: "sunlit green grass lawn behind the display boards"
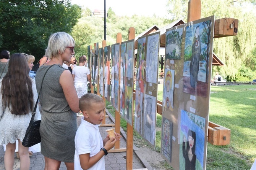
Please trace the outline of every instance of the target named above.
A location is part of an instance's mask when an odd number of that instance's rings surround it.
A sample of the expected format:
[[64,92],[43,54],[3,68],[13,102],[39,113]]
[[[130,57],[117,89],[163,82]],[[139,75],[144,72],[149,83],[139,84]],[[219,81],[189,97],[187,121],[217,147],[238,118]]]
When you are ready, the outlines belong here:
[[[158,86],[162,101],[163,86]],[[207,170],[250,170],[256,159],[256,86],[212,86],[209,121],[231,129],[230,145],[207,145]],[[110,113],[115,113],[106,103]],[[113,114],[114,115],[114,114]],[[157,127],[162,116],[157,114]],[[121,118],[121,127],[126,122]],[[134,137],[139,137],[134,131]],[[161,131],[156,133],[156,150],[160,152]]]

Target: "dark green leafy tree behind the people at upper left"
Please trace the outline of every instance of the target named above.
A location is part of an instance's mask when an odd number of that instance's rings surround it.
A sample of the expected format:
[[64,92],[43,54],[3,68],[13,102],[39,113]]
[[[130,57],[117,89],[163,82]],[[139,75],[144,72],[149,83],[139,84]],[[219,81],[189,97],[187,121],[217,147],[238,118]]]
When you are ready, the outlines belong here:
[[50,35],[70,33],[81,8],[69,0],[1,0],[0,50],[25,52],[39,60]]

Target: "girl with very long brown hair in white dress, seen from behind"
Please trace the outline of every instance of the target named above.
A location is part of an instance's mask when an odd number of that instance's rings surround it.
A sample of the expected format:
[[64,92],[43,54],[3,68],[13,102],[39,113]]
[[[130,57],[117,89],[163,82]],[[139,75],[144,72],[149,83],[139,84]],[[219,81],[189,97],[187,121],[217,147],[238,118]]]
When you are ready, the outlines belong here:
[[[25,56],[13,54],[9,69],[0,80],[0,145],[6,145],[5,169],[13,170],[16,139],[19,143],[20,169],[29,170],[29,148],[22,145],[37,100],[36,83],[29,78]],[[22,84],[22,86],[20,85]],[[40,119],[37,107],[35,121]],[[18,156],[18,155],[17,155]]]

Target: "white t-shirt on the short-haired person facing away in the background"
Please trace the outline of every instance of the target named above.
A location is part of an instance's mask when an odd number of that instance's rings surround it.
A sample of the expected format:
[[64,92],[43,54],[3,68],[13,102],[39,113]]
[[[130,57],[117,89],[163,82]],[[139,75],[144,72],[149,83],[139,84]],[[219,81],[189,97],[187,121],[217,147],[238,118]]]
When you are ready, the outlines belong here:
[[75,75],[75,83],[87,83],[87,75],[90,74],[88,67],[78,66],[74,67],[72,74]]

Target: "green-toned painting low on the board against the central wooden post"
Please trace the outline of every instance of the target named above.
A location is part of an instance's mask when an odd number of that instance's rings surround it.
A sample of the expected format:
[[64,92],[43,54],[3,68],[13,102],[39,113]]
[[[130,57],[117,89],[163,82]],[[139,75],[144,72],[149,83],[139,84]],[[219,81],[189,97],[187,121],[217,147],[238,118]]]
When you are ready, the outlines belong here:
[[133,88],[125,86],[125,113],[122,117],[133,126]]

